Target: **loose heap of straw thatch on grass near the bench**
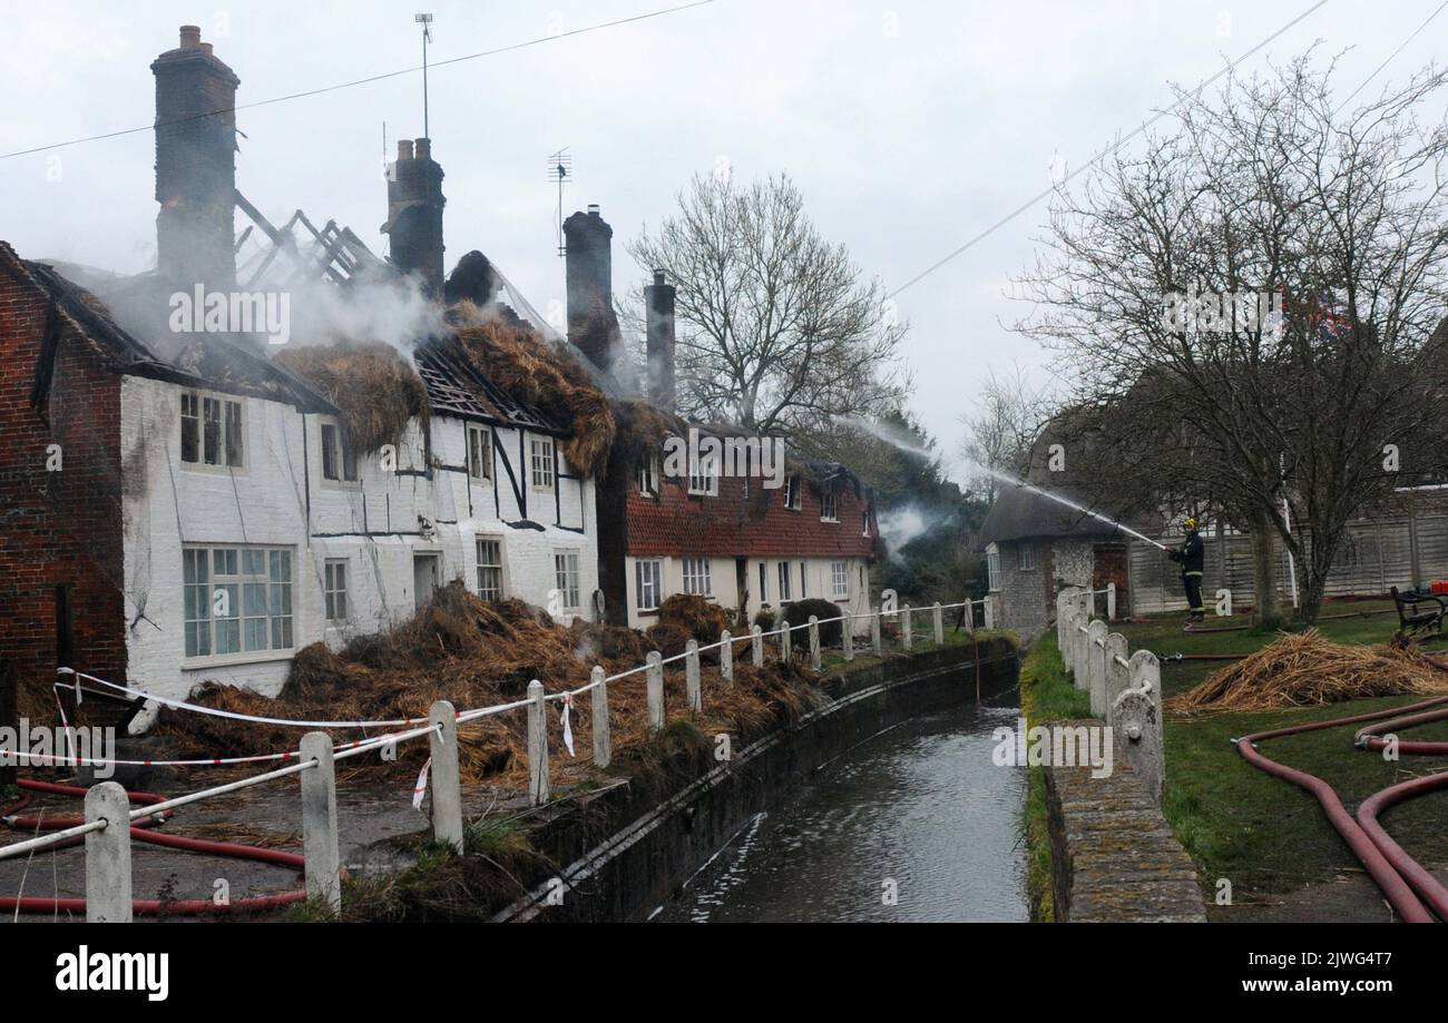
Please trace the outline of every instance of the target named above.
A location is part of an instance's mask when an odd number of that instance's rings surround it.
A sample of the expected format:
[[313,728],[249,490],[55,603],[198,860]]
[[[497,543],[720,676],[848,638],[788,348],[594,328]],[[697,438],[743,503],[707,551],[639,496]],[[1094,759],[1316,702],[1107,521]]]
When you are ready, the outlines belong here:
[[1176,713],[1244,713],[1409,693],[1448,693],[1448,668],[1415,648],[1344,645],[1309,629],[1284,634],[1167,700],[1166,708]]

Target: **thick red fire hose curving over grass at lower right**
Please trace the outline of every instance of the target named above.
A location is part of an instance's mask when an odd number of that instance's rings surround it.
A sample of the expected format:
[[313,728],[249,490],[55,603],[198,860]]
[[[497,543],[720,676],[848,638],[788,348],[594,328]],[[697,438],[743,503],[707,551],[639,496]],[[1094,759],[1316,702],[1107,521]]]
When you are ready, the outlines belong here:
[[[1448,664],[1428,658],[1436,667],[1448,671]],[[1358,858],[1368,875],[1377,883],[1389,903],[1403,920],[1409,923],[1432,923],[1434,916],[1448,922],[1448,888],[1442,886],[1422,864],[1413,859],[1397,842],[1394,842],[1378,823],[1378,815],[1389,807],[1407,799],[1448,789],[1448,771],[1413,778],[1374,793],[1358,806],[1357,818],[1347,812],[1337,791],[1322,778],[1306,771],[1279,764],[1264,757],[1257,744],[1268,739],[1279,739],[1287,735],[1302,735],[1305,732],[1319,732],[1345,725],[1370,725],[1357,734],[1360,750],[1381,751],[1389,748],[1389,739],[1383,732],[1402,728],[1413,728],[1436,721],[1448,719],[1448,696],[1415,703],[1406,708],[1392,708],[1377,713],[1355,715],[1350,718],[1335,718],[1293,728],[1279,728],[1270,732],[1258,732],[1242,739],[1235,739],[1237,751],[1254,767],[1292,781],[1299,789],[1316,797],[1328,822],[1337,829],[1342,841]],[[1448,742],[1397,742],[1399,752],[1412,754],[1448,754]],[[1426,903],[1426,904],[1425,904]]]

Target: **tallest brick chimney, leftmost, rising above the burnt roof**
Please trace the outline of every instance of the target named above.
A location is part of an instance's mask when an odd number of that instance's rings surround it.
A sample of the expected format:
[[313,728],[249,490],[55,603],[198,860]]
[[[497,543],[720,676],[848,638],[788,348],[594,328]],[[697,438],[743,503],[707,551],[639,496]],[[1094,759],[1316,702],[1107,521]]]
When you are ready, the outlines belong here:
[[181,26],[156,77],[156,262],[164,279],[236,286],[236,88],[240,80]]

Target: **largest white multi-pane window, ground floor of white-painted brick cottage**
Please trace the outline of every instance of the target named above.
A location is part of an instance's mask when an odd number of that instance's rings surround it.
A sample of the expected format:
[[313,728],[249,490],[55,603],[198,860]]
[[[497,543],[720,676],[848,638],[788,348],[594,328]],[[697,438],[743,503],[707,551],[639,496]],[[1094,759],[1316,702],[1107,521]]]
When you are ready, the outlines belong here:
[[[201,566],[204,572],[197,570]],[[297,650],[295,548],[187,544],[181,548],[181,569],[185,596],[182,663],[187,667],[275,661]],[[224,593],[220,602],[224,615],[216,614],[219,593]],[[255,614],[252,603],[258,596],[261,614]],[[219,647],[232,645],[220,642],[223,634],[217,631],[230,624],[235,624],[235,634],[226,629],[226,635],[235,641],[235,648],[217,653]],[[261,627],[265,645],[251,638],[256,627]],[[201,650],[200,628],[206,629],[206,650]]]

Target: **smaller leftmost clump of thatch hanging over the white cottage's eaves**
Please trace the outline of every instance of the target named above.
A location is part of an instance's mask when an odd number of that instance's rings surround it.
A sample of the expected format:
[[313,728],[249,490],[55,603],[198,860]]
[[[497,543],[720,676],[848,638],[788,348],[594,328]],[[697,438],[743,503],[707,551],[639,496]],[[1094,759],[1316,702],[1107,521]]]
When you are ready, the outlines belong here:
[[306,378],[342,409],[358,454],[395,444],[408,420],[427,421],[427,389],[417,370],[387,344],[290,347],[277,362]]

